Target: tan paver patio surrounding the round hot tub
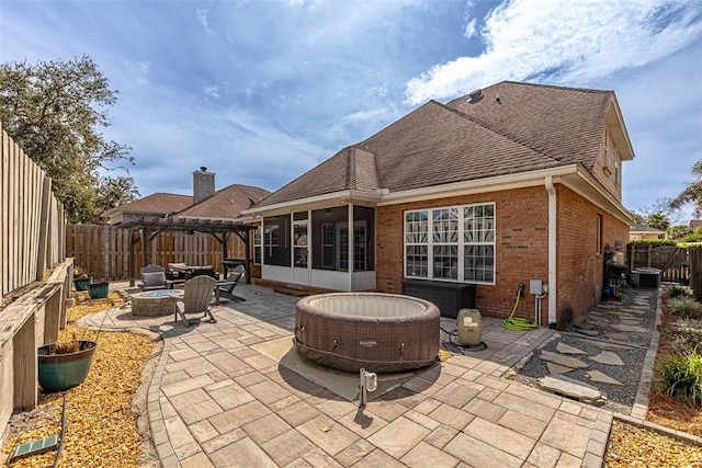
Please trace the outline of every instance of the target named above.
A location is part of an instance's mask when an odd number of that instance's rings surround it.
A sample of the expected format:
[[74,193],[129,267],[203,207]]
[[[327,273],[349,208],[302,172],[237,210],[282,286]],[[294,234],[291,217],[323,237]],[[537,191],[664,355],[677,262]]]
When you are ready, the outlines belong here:
[[190,328],[128,307],[86,318],[163,338],[148,414],[165,467],[602,465],[611,411],[505,378],[548,329],[510,331],[483,318],[486,351],[417,372],[361,409],[257,351],[293,336],[296,298],[253,285],[237,294],[247,300],[214,308],[217,323]]

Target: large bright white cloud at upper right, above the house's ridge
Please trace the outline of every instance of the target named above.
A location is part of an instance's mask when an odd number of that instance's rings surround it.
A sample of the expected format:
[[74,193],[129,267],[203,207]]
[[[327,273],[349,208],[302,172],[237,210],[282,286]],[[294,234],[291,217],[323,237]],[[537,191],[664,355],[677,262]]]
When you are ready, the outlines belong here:
[[[407,82],[416,105],[501,80],[589,82],[666,57],[702,35],[700,3],[514,0],[488,13],[485,52],[440,64]],[[466,32],[471,28],[471,20]]]

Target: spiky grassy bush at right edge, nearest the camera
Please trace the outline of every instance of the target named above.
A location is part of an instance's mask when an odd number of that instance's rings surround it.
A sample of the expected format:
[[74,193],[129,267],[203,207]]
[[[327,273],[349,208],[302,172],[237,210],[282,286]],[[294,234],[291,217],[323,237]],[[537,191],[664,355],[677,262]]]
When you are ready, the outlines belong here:
[[658,385],[670,397],[702,404],[702,356],[697,352],[669,355],[660,365]]

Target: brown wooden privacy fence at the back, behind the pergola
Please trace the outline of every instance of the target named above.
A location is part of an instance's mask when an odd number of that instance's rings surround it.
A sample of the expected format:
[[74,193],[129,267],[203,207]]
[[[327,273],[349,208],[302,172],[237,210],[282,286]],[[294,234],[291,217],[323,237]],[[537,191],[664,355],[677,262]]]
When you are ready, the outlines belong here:
[[[136,232],[134,233],[136,236]],[[129,242],[132,232],[115,226],[68,225],[66,227],[66,252],[75,258],[95,281],[129,279]],[[135,272],[141,266],[141,242],[135,244]],[[149,246],[149,263],[166,266],[169,263],[189,265],[213,265],[222,271],[222,244],[208,233],[161,231]],[[244,242],[229,236],[227,256],[242,259]]]

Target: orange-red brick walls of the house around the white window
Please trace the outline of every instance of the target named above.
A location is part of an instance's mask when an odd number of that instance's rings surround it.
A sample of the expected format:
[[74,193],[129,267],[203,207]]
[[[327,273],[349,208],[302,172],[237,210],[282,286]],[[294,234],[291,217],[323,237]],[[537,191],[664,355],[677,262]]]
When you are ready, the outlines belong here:
[[[480,313],[507,318],[520,283],[526,285],[517,316],[534,320],[535,300],[529,281],[548,282],[548,195],[545,187],[414,202],[377,208],[376,287],[401,293],[404,278],[404,213],[411,209],[495,203],[495,285],[476,286]],[[603,243],[625,240],[629,227],[597,208],[575,192],[557,185],[557,311],[558,327],[581,316],[599,300],[602,254],[597,254],[597,214],[603,218]],[[542,323],[547,323],[547,299],[542,301]]]

